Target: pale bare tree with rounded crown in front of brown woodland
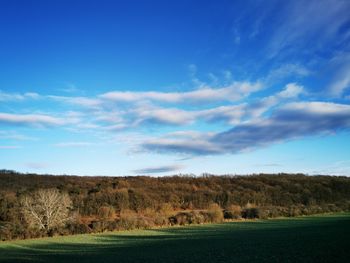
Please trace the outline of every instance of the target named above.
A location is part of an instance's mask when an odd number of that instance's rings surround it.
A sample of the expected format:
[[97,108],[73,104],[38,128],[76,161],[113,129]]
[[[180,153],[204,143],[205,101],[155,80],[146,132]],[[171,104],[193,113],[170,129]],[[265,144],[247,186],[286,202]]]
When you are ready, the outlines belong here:
[[21,200],[23,213],[31,227],[49,232],[69,220],[72,201],[57,189],[40,189]]

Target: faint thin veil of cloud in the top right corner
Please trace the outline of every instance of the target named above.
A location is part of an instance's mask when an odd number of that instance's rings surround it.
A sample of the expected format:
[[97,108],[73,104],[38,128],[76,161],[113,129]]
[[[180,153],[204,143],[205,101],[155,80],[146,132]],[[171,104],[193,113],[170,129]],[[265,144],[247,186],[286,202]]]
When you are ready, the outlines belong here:
[[339,29],[350,20],[349,1],[296,0],[283,3],[280,8],[281,17],[268,46],[270,57],[282,52],[294,54],[310,45],[317,51],[334,37],[344,40],[337,36]]

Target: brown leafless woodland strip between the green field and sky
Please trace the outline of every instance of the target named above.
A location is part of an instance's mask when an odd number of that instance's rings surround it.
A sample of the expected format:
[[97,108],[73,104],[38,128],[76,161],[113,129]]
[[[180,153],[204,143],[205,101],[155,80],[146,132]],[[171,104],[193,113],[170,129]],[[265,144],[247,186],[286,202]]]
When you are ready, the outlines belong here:
[[[49,228],[44,214],[40,222],[30,216],[44,211],[35,200],[45,204],[50,191],[57,200],[64,196],[60,211],[67,213],[60,224],[50,219]],[[340,211],[350,211],[347,177],[79,177],[0,170],[1,240]]]

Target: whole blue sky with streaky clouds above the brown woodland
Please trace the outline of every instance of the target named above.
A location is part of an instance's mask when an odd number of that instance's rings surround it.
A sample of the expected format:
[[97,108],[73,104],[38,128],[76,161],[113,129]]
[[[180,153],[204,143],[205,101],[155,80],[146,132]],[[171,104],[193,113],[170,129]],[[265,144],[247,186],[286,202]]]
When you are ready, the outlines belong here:
[[350,175],[350,1],[0,0],[0,169]]

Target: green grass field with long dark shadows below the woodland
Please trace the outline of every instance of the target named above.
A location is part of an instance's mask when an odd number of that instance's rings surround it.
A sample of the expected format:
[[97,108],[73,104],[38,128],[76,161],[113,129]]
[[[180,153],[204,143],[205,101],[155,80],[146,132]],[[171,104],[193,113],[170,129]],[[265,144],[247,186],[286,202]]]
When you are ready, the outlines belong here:
[[348,262],[350,214],[0,243],[0,262]]

